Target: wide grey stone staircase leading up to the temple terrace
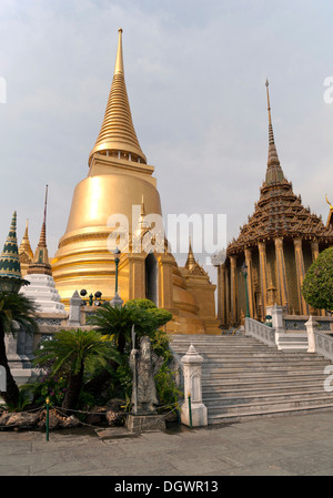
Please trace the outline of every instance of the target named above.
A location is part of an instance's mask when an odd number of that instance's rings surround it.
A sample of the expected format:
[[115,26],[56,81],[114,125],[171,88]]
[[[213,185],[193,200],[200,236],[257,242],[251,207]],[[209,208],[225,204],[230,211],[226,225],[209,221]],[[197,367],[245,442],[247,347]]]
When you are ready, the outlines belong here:
[[278,350],[244,335],[172,335],[181,358],[193,344],[204,358],[202,400],[209,424],[333,410],[324,390],[330,360],[315,354]]

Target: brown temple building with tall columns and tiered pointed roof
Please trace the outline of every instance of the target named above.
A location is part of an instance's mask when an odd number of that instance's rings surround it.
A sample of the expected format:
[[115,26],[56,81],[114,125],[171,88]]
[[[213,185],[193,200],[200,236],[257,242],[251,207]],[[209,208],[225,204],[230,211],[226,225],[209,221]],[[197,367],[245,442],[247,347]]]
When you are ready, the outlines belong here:
[[265,321],[266,306],[275,303],[287,314],[309,316],[301,292],[305,272],[319,253],[333,244],[332,206],[324,225],[303,206],[282,171],[268,82],[266,92],[269,157],[260,199],[238,238],[228,245],[224,263],[218,265],[218,316],[223,327],[239,324],[245,314]]

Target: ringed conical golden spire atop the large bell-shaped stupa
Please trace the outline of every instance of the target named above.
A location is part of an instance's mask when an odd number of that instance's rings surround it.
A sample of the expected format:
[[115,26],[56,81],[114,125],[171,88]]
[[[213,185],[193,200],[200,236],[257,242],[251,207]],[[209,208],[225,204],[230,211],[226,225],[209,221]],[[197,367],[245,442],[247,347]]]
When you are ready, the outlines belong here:
[[111,155],[115,159],[147,163],[137,133],[125,87],[123,55],[122,55],[122,29],[118,30],[118,50],[114,65],[114,74],[104,114],[104,120],[89,155],[89,164],[94,153]]

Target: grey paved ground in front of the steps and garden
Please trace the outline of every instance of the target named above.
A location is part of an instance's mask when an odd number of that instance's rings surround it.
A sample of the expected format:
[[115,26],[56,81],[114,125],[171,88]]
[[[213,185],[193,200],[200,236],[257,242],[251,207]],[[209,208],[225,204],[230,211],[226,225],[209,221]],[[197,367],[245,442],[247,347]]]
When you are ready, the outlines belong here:
[[[330,413],[115,437],[0,431],[1,476],[333,476]],[[121,436],[122,434],[119,434]]]

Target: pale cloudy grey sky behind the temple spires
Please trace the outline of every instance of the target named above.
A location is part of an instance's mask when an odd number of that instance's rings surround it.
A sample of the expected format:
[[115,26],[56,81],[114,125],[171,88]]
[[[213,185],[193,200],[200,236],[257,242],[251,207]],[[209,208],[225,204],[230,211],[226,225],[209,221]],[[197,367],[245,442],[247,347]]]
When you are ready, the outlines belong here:
[[284,174],[325,222],[332,20],[326,0],[1,0],[0,244],[16,210],[19,243],[29,218],[34,251],[48,184],[54,255],[104,115],[119,28],[132,118],[164,216],[226,214],[226,240],[238,236],[265,175],[268,78]]

